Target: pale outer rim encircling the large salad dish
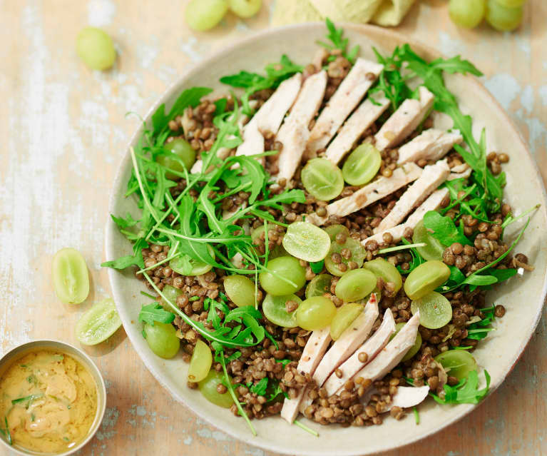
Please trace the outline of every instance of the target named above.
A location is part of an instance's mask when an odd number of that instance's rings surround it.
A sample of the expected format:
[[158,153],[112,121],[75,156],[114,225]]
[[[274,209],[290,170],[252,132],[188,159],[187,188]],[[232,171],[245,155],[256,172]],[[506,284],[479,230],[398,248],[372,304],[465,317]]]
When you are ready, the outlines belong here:
[[[335,22],[335,24],[337,26],[342,26],[344,30],[351,29],[352,31],[354,31],[358,34],[362,34],[364,37],[371,36],[371,35],[372,36],[382,36],[382,35],[384,35],[384,36],[389,36],[389,37],[391,37],[392,39],[394,39],[396,41],[399,41],[399,43],[401,43],[401,44],[409,43],[412,46],[412,48],[415,49],[416,51],[418,51],[418,53],[421,56],[424,56],[424,54],[426,54],[428,59],[444,57],[444,54],[442,54],[441,52],[439,52],[436,49],[432,48],[431,46],[423,44],[419,40],[411,39],[407,36],[404,36],[402,33],[398,32],[398,31],[394,31],[393,29],[384,29],[382,27],[374,26],[374,25],[370,25],[370,24],[353,24],[353,23],[348,23],[348,22]],[[152,114],[158,109],[158,107],[162,103],[165,103],[166,101],[173,98],[173,95],[175,95],[175,92],[178,93],[178,91],[180,91],[179,86],[180,86],[181,81],[183,81],[184,79],[188,78],[189,76],[191,76],[192,74],[194,74],[196,72],[203,71],[203,69],[208,64],[214,63],[215,60],[217,60],[223,54],[225,54],[227,52],[230,52],[230,51],[233,51],[235,49],[244,47],[246,44],[248,44],[252,41],[255,41],[256,39],[259,39],[259,38],[262,39],[262,38],[271,37],[272,39],[275,39],[275,36],[277,34],[282,34],[284,31],[292,31],[292,30],[297,30],[297,31],[300,30],[300,31],[302,31],[303,36],[305,36],[305,31],[306,30],[308,30],[308,29],[317,29],[318,27],[324,27],[324,22],[307,22],[307,23],[303,23],[303,24],[291,24],[291,25],[287,25],[287,26],[269,27],[267,29],[257,31],[255,33],[251,34],[250,36],[246,36],[245,38],[238,39],[238,40],[228,44],[228,46],[223,46],[222,48],[208,54],[207,56],[205,56],[204,59],[202,59],[198,62],[194,62],[192,64],[189,64],[188,67],[185,68],[185,70],[180,74],[180,76],[177,78],[177,80],[174,81],[173,83],[171,83],[170,86],[168,86],[168,88],[166,88],[166,90],[161,94],[161,96],[159,96],[157,98],[157,100],[155,101],[155,103],[153,103],[153,105],[149,108],[146,115],[143,116],[143,122],[148,123],[148,121],[150,121],[150,118],[151,118]],[[541,195],[539,195],[539,198],[541,199],[541,208],[539,208],[539,211],[541,211],[543,213],[543,216],[545,216],[547,218],[547,191],[546,191],[546,187],[545,187],[545,184],[543,183],[543,178],[542,178],[541,173],[539,171],[538,165],[537,165],[535,159],[533,158],[533,155],[532,155],[531,151],[529,150],[528,145],[523,140],[523,137],[522,137],[520,131],[518,130],[516,124],[508,116],[508,113],[503,109],[503,107],[496,100],[496,98],[494,98],[492,93],[481,83],[481,81],[479,81],[479,78],[476,78],[476,76],[472,76],[470,74],[466,75],[466,78],[469,81],[469,83],[474,85],[474,88],[476,88],[476,90],[481,91],[482,93],[484,93],[484,95],[489,98],[491,103],[493,103],[494,106],[496,106],[496,108],[498,109],[498,112],[501,114],[501,117],[503,118],[503,121],[508,126],[511,127],[511,135],[514,136],[515,141],[518,141],[518,143],[520,143],[522,148],[526,151],[526,155],[527,155],[528,159],[531,161],[531,163],[533,165],[533,170],[534,170],[534,175],[531,176],[531,178],[538,181],[538,183],[540,184],[540,187],[541,187]],[[120,183],[121,183],[120,181],[124,178],[123,171],[126,169],[126,166],[128,166],[128,163],[130,163],[130,161],[131,161],[130,155],[127,151],[129,150],[129,148],[131,146],[133,146],[136,143],[136,141],[140,137],[141,133],[143,132],[144,123],[140,123],[139,128],[137,128],[136,132],[133,133],[133,136],[131,136],[131,139],[128,141],[128,145],[127,145],[127,148],[126,148],[126,153],[121,158],[121,161],[118,164],[118,171],[116,172],[116,177],[114,178],[113,186],[112,186],[113,190],[120,186]],[[109,199],[109,204],[108,204],[109,213],[113,213],[113,209],[116,206],[117,198],[118,198],[118,195],[114,191],[112,191],[111,197]],[[113,236],[113,233],[114,233],[113,230],[115,230],[115,229],[116,229],[115,224],[113,223],[111,218],[108,217],[108,220],[107,220],[106,226],[105,226],[106,258],[114,258],[114,255],[113,255],[113,252],[112,252],[112,245],[113,245],[112,236]],[[116,302],[116,307],[118,308],[118,313],[120,313],[121,320],[122,320],[122,323],[123,323],[123,327],[124,327],[124,329],[126,329],[126,333],[128,335],[128,338],[129,338],[129,340],[131,340],[131,343],[133,344],[133,348],[135,348],[135,343],[133,342],[133,337],[136,337],[136,335],[133,335],[131,330],[128,330],[128,327],[131,325],[131,318],[128,318],[128,316],[125,315],[125,312],[120,307],[118,307],[118,291],[116,290],[116,287],[115,287],[116,274],[118,274],[118,271],[116,271],[112,268],[108,268],[108,280],[111,284],[111,290],[112,290],[112,293],[113,293],[114,300]],[[506,380],[507,375],[509,373],[511,373],[511,371],[515,367],[516,363],[518,363],[518,360],[523,355],[523,352],[526,349],[526,346],[530,342],[530,340],[532,338],[532,335],[533,335],[534,331],[536,330],[536,327],[538,326],[539,320],[541,318],[541,314],[543,312],[543,307],[544,307],[544,305],[546,304],[546,301],[547,301],[547,276],[543,281],[543,286],[542,286],[541,294],[539,295],[539,297],[541,299],[541,305],[538,306],[538,310],[536,312],[536,315],[534,315],[533,324],[528,328],[528,333],[526,333],[526,337],[521,339],[521,343],[518,347],[518,355],[516,355],[516,358],[513,360],[513,363],[511,363],[511,365],[509,365],[508,368],[506,368],[501,373],[499,383],[491,385],[490,390],[489,390],[489,394],[486,397],[486,400],[488,400],[488,398],[491,397],[491,393],[493,393],[499,387],[499,385],[501,385],[501,383],[503,383],[503,381]],[[126,325],[127,325],[127,327],[126,327]],[[195,408],[193,406],[191,406],[185,400],[184,397],[180,396],[178,394],[178,392],[175,392],[175,390],[173,390],[167,384],[167,382],[165,382],[165,380],[163,380],[161,375],[159,375],[158,373],[155,373],[155,369],[153,368],[153,366],[148,362],[148,360],[145,359],[145,357],[140,355],[138,350],[136,350],[136,352],[138,353],[139,358],[143,361],[146,368],[150,371],[150,373],[153,375],[153,377],[160,383],[160,385],[162,385],[162,387],[164,387],[165,390],[167,390],[172,397],[174,397],[176,400],[178,400],[178,402],[181,402],[185,407],[188,407],[190,410],[192,410],[192,412],[195,413],[196,416],[202,418],[203,420],[208,422],[210,425],[213,425],[213,426],[217,427],[218,429],[220,429],[223,432],[227,433],[228,435],[234,437],[235,439],[241,440],[242,442],[245,442],[245,443],[248,443],[248,444],[253,445],[255,447],[260,447],[264,450],[268,450],[268,451],[272,451],[272,452],[277,452],[277,453],[281,453],[281,454],[285,454],[285,455],[293,455],[294,454],[294,452],[291,452],[289,450],[285,450],[284,448],[277,447],[277,445],[275,445],[275,442],[273,442],[272,440],[260,440],[260,441],[257,441],[257,442],[252,442],[250,440],[243,440],[240,435],[237,435],[237,431],[233,430],[232,427],[224,425],[223,420],[220,420],[220,419],[218,419],[214,416],[202,415],[200,412],[195,410]],[[479,404],[476,404],[476,405],[466,404],[466,405],[460,406],[459,411],[455,412],[453,417],[451,417],[449,420],[446,420],[446,422],[442,423],[442,425],[437,427],[435,430],[416,433],[415,436],[411,437],[409,440],[407,440],[406,442],[404,442],[400,445],[384,447],[383,449],[362,450],[360,452],[354,452],[354,451],[351,451],[351,450],[346,451],[343,448],[340,448],[337,451],[337,454],[340,455],[340,456],[369,455],[369,454],[372,454],[376,451],[395,450],[397,448],[405,447],[407,445],[410,445],[411,443],[418,442],[419,440],[422,440],[426,437],[430,437],[431,435],[434,435],[437,432],[445,429],[449,425],[454,424],[454,422],[461,420],[461,418],[468,415],[472,410],[475,410],[476,407],[479,407],[484,402],[485,402],[485,400],[482,400],[481,402],[479,402]],[[305,449],[300,449],[300,448],[298,449],[298,451],[299,451],[299,454],[301,454],[301,455],[330,456],[330,453],[325,452],[325,451],[315,451],[315,450],[307,451]]]

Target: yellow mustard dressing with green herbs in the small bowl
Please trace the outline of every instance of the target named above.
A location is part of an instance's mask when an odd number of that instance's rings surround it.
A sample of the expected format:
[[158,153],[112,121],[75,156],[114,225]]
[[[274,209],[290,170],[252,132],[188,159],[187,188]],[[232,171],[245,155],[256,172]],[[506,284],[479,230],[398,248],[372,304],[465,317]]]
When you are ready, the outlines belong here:
[[97,385],[75,358],[37,350],[0,377],[0,428],[7,420],[15,447],[60,453],[78,445],[97,410]]

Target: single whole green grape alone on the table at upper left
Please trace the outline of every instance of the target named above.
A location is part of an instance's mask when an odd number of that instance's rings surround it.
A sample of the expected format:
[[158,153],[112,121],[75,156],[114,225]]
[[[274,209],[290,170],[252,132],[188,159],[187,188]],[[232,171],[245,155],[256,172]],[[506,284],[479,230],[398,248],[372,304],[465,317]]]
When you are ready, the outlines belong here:
[[108,70],[116,61],[111,36],[96,27],[86,27],[78,34],[76,52],[92,70]]

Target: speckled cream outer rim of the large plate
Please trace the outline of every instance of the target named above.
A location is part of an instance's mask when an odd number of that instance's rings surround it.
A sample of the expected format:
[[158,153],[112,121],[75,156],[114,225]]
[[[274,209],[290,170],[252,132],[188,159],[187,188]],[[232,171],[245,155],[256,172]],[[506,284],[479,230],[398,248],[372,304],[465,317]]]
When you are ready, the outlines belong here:
[[[338,25],[338,24],[337,24]],[[409,43],[412,48],[421,54],[421,56],[426,56],[428,59],[435,59],[437,57],[442,56],[439,51],[436,51],[435,49],[432,49],[429,46],[426,46],[424,44],[421,44],[419,41],[416,41],[414,39],[409,39],[402,34],[399,34],[395,31],[392,31],[390,29],[382,29],[378,26],[371,26],[371,25],[359,25],[359,24],[339,24],[344,27],[344,29],[351,29],[354,32],[357,32],[358,34],[362,34],[365,37],[374,39],[381,39],[382,36],[386,37],[389,40],[398,41],[399,44]],[[317,31],[319,28],[323,28],[323,23],[307,23],[307,24],[295,24],[290,26],[283,26],[283,27],[277,27],[277,28],[271,28],[266,29],[264,31],[257,32],[256,34],[253,34],[252,36],[249,36],[245,39],[242,39],[240,41],[237,41],[233,44],[230,44],[230,46],[226,46],[223,49],[220,49],[219,51],[215,51],[215,53],[210,54],[210,56],[206,57],[202,61],[198,62],[197,64],[192,64],[188,66],[188,69],[184,72],[183,75],[178,78],[178,81],[175,81],[166,91],[163,93],[160,98],[158,98],[158,101],[156,101],[153,106],[148,111],[147,115],[145,116],[145,121],[149,121],[152,114],[155,112],[155,110],[160,106],[160,104],[165,103],[165,101],[170,100],[170,98],[173,98],[178,92],[180,91],[180,81],[183,81],[184,79],[187,79],[190,77],[190,75],[198,74],[200,71],[203,71],[208,64],[212,64],[215,62],[215,60],[219,59],[220,56],[223,54],[228,54],[231,51],[234,51],[235,49],[244,48],[245,45],[250,44],[252,41],[255,41],[256,39],[263,39],[263,38],[270,38],[272,42],[275,41],[275,37],[279,34],[282,34],[284,31],[300,31],[302,33],[302,36],[306,36],[306,31]],[[541,211],[543,219],[547,218],[547,193],[546,189],[543,186],[543,180],[541,178],[541,173],[539,172],[538,166],[536,162],[533,159],[533,156],[531,152],[528,149],[528,146],[523,141],[523,138],[521,137],[520,133],[518,133],[518,129],[516,128],[516,125],[513,123],[511,118],[508,117],[507,113],[503,110],[501,105],[498,101],[494,98],[494,96],[491,95],[491,93],[481,84],[481,82],[475,78],[474,76],[467,76],[467,80],[469,84],[472,84],[475,88],[475,90],[482,92],[484,96],[489,98],[489,101],[491,101],[494,106],[498,108],[499,113],[501,113],[501,116],[503,118],[503,122],[506,123],[508,128],[511,131],[511,136],[513,136],[513,141],[515,143],[520,143],[522,148],[526,151],[526,158],[528,161],[530,161],[533,165],[534,169],[534,176],[531,176],[533,181],[536,181],[539,183],[539,186],[541,188],[541,195],[538,195],[538,199],[541,199],[541,208],[539,211]],[[128,143],[128,148],[136,143],[137,139],[139,138],[140,134],[143,131],[143,126],[140,126],[136,133],[131,138],[131,141]],[[130,165],[131,158],[128,153],[126,153],[126,156],[122,159],[119,167],[118,167],[118,173],[116,174],[115,181],[113,183],[113,190],[116,188],[122,188],[121,186],[125,185],[125,182],[123,182],[124,176],[124,170],[128,168]],[[113,208],[116,206],[116,200],[118,198],[118,194],[116,194],[116,191],[113,191],[111,194],[111,198],[109,201],[109,211],[112,213]],[[105,246],[106,246],[106,258],[115,258],[115,255],[113,253],[113,238],[114,234],[116,232],[116,224],[111,221],[110,218],[108,218],[108,221],[106,223],[106,236],[105,236]],[[139,354],[140,358],[143,360],[143,363],[146,365],[148,370],[150,370],[150,373],[154,375],[156,380],[167,389],[170,394],[175,397],[176,400],[179,402],[182,402],[186,407],[190,408],[193,412],[195,412],[196,415],[202,417],[204,420],[209,422],[211,425],[214,425],[215,427],[218,427],[220,430],[223,430],[223,432],[226,432],[228,435],[231,435],[232,437],[237,438],[238,440],[242,440],[246,443],[249,443],[250,445],[255,445],[256,447],[263,448],[265,450],[269,450],[272,452],[280,452],[282,454],[295,454],[295,451],[289,451],[285,449],[284,447],[279,447],[275,444],[273,440],[265,440],[263,438],[257,438],[256,440],[250,440],[250,435],[243,435],[239,432],[239,430],[235,429],[234,427],[231,427],[229,425],[226,425],[225,420],[222,419],[222,417],[218,417],[215,415],[203,415],[198,410],[195,410],[194,407],[192,407],[188,402],[185,400],[185,398],[178,394],[177,391],[175,391],[170,385],[168,385],[168,382],[163,378],[161,373],[157,372],[155,370],[155,367],[152,365],[150,360],[148,360],[148,356],[144,355],[143,353],[140,353],[138,350],[138,345],[136,344],[136,338],[142,337],[140,335],[140,331],[136,331],[133,328],[133,325],[131,324],[131,316],[128,315],[127,311],[123,306],[119,305],[118,303],[121,303],[123,300],[123,295],[118,291],[118,288],[116,287],[116,281],[119,280],[118,272],[113,269],[108,270],[108,278],[111,283],[111,288],[113,292],[113,297],[116,302],[116,306],[118,308],[118,312],[120,313],[120,317],[123,323],[123,327],[126,330],[126,333],[128,334],[129,339],[131,340],[131,343],[133,344],[133,347],[136,348],[137,353]],[[546,301],[547,296],[547,275],[543,278],[543,284],[541,286],[541,290],[538,290],[538,300],[537,300],[537,308],[536,313],[533,318],[533,324],[528,328],[528,331],[526,335],[521,335],[520,344],[518,346],[518,354],[514,357],[512,363],[508,365],[508,367],[501,373],[499,376],[498,381],[493,382],[491,385],[491,391],[489,394],[489,397],[491,396],[491,393],[496,390],[499,385],[505,380],[506,376],[513,370],[514,366],[518,362],[518,360],[521,358],[521,355],[523,354],[523,350],[526,348],[526,345],[531,340],[531,337],[533,335],[534,330],[536,329],[539,320],[541,318],[541,312],[543,310],[543,305]],[[523,337],[522,337],[523,336]],[[484,402],[484,401],[483,401]],[[481,402],[482,403],[482,402]],[[479,404],[481,405],[481,404]],[[406,440],[405,442],[399,443],[394,445],[392,442],[381,442],[378,445],[372,445],[368,448],[363,448],[363,450],[360,450],[359,452],[356,452],[354,450],[344,450],[343,447],[339,448],[337,450],[337,455],[339,456],[357,456],[357,455],[371,455],[376,452],[382,452],[387,450],[393,450],[395,448],[404,447],[406,445],[410,445],[411,443],[417,442],[419,440],[424,439],[425,437],[429,437],[430,435],[435,434],[436,432],[439,432],[443,430],[445,427],[453,424],[454,422],[461,420],[464,416],[469,414],[471,410],[475,410],[476,407],[479,405],[459,405],[457,407],[457,410],[451,411],[451,417],[448,420],[445,420],[444,422],[439,424],[439,427],[436,427],[434,430],[425,430],[425,431],[419,431],[416,432],[416,434]],[[295,450],[300,455],[310,455],[310,456],[331,456],[332,450],[317,450],[317,451],[309,451],[302,448],[299,448],[295,445]]]

